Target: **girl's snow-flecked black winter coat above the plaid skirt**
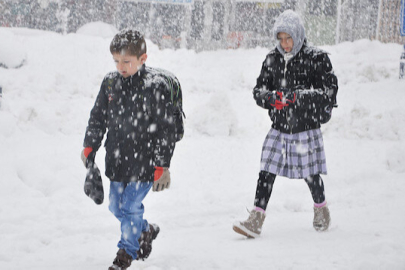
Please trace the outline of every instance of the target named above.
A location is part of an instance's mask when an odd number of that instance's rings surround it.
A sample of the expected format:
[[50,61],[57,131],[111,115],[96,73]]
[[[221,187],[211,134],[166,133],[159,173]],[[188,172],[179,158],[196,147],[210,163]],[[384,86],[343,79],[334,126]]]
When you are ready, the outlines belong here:
[[[276,110],[263,98],[263,93],[281,88],[296,90],[297,101],[282,110]],[[277,48],[267,55],[253,96],[259,106],[269,110],[274,129],[284,133],[298,133],[321,126],[321,108],[336,104],[337,90],[337,78],[327,53],[304,44],[287,63],[287,67]]]

